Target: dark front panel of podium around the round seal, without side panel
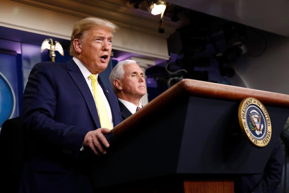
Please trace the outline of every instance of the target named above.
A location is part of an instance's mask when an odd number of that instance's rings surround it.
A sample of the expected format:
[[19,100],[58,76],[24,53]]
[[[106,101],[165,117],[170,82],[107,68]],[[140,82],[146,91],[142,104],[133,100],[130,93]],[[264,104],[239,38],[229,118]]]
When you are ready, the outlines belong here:
[[[272,136],[266,147],[253,147],[242,135],[239,102],[191,96],[177,173],[262,173],[289,115],[289,109],[266,106]],[[198,121],[201,120],[201,121]]]

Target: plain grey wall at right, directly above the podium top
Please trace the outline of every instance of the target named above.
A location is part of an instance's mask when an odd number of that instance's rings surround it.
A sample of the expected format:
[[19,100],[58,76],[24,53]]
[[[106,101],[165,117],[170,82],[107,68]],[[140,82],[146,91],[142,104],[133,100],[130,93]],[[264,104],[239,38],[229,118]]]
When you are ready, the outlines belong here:
[[233,68],[248,88],[289,94],[289,38],[249,31],[248,52],[258,54],[264,49],[262,36],[267,40],[266,51],[259,57],[242,55]]

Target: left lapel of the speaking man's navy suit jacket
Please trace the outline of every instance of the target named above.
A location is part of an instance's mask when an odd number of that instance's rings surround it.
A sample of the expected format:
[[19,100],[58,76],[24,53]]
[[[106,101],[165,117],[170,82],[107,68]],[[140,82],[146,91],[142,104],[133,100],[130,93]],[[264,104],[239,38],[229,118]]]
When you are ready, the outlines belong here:
[[68,73],[70,74],[71,78],[79,88],[80,92],[82,93],[82,96],[84,97],[84,100],[89,108],[89,111],[92,115],[92,118],[95,122],[95,125],[97,128],[101,128],[97,109],[95,106],[95,101],[93,99],[93,96],[91,94],[91,91],[87,85],[87,82],[85,81],[85,78],[83,77],[80,69],[76,65],[76,63],[73,61],[73,59],[70,59],[67,62],[67,69],[69,70]]

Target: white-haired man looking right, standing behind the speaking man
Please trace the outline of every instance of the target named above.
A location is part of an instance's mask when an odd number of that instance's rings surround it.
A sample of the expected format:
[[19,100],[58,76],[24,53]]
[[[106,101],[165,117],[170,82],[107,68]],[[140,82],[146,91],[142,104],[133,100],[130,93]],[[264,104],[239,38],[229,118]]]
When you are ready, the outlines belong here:
[[134,60],[119,62],[111,71],[109,81],[118,97],[123,120],[142,108],[140,99],[146,91],[144,73]]

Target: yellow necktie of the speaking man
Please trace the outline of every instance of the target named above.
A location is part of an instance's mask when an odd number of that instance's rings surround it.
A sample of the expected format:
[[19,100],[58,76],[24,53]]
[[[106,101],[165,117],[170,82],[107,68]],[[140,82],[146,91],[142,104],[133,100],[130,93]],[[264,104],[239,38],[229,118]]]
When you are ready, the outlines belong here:
[[111,123],[108,117],[107,109],[100,95],[100,92],[98,90],[96,74],[91,74],[89,78],[91,79],[92,91],[93,91],[95,103],[96,103],[97,110],[98,110],[100,125],[102,128],[108,128],[111,130],[112,128],[111,128]]

